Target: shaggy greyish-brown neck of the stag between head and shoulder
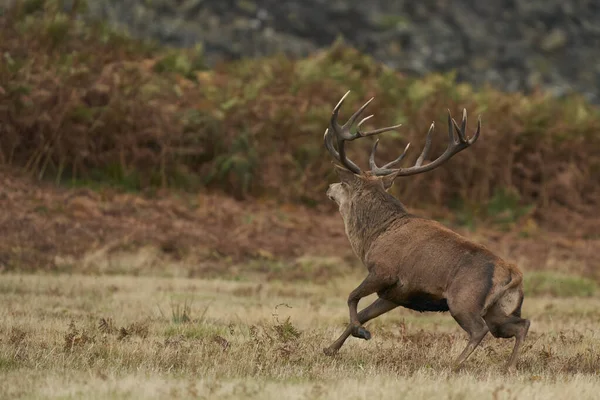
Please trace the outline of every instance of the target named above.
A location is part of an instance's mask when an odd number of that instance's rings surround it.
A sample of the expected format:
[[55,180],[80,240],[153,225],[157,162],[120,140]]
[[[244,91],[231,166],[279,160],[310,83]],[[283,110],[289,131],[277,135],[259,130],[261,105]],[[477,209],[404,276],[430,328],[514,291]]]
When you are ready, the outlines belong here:
[[363,261],[379,235],[408,215],[402,203],[385,191],[355,196],[340,213],[352,250]]

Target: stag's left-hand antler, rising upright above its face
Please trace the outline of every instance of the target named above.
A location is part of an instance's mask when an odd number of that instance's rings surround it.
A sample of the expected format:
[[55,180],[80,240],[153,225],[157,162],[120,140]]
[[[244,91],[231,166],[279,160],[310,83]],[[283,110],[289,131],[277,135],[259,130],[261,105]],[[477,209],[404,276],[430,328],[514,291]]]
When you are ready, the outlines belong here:
[[[348,94],[350,94],[349,90],[346,92],[346,94],[344,96],[342,96],[342,98],[340,99],[340,101],[334,107],[333,112],[331,113],[331,119],[329,121],[329,128],[327,128],[325,130],[325,135],[323,135],[323,141],[324,141],[324,144],[325,144],[325,148],[329,151],[329,153],[331,153],[331,155],[336,160],[338,160],[348,170],[354,172],[355,174],[360,174],[361,173],[361,169],[352,160],[350,160],[346,156],[346,149],[344,147],[345,142],[351,142],[351,141],[353,141],[355,139],[358,139],[358,138],[361,138],[361,137],[373,136],[373,135],[377,135],[379,133],[391,131],[391,130],[394,130],[394,129],[400,127],[400,125],[390,126],[390,127],[387,127],[387,128],[375,129],[375,130],[372,130],[372,131],[369,131],[369,132],[361,132],[360,131],[360,126],[365,121],[367,121],[368,119],[370,119],[370,118],[373,117],[373,115],[369,115],[368,117],[365,117],[362,120],[360,120],[360,122],[356,125],[356,132],[355,133],[351,133],[350,132],[350,128],[352,127],[352,125],[354,125],[354,123],[360,117],[360,115],[365,110],[365,108],[367,108],[367,106],[369,105],[369,103],[371,101],[373,101],[373,98],[371,98],[362,107],[360,107],[348,119],[348,121],[346,121],[346,123],[344,125],[340,125],[337,122],[338,114],[339,114],[340,108],[342,107],[342,103],[344,102],[344,100],[346,99],[346,97],[348,96]],[[334,145],[333,145],[334,136],[335,136],[335,141],[337,142],[337,148],[338,148],[338,150],[336,150],[335,147],[334,147]],[[388,166],[389,166],[389,164],[388,164]]]

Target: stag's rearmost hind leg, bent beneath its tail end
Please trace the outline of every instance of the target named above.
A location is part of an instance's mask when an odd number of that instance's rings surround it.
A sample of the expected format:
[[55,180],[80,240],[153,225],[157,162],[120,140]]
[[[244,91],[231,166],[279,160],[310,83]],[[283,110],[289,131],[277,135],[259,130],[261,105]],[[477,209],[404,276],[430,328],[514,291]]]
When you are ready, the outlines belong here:
[[503,315],[501,310],[494,308],[484,317],[485,322],[489,326],[490,332],[494,337],[505,339],[511,337],[515,338],[513,351],[505,366],[507,371],[516,367],[519,350],[523,341],[525,341],[525,337],[529,331],[529,325],[531,324],[528,319],[521,318],[516,314],[518,313],[513,313],[508,316]]

